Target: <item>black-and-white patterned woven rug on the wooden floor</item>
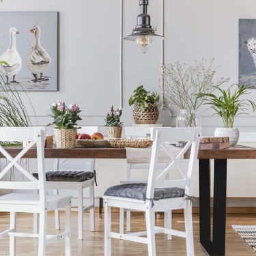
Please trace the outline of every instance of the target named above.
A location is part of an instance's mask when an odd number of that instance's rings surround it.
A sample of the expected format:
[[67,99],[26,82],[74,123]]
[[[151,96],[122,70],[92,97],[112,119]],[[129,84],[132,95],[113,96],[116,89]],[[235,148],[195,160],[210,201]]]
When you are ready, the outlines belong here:
[[244,241],[253,248],[256,252],[256,226],[250,225],[232,225],[238,235],[244,239]]

